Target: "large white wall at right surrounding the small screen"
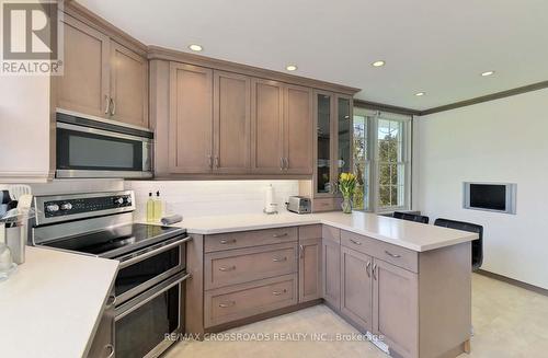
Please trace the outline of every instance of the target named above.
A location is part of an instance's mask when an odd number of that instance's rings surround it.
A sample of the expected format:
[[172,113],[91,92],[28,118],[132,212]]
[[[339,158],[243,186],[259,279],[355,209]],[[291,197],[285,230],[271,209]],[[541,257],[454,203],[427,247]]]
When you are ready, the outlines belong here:
[[[484,227],[483,269],[548,288],[548,90],[415,122],[414,206]],[[463,182],[517,183],[517,215],[463,209]]]

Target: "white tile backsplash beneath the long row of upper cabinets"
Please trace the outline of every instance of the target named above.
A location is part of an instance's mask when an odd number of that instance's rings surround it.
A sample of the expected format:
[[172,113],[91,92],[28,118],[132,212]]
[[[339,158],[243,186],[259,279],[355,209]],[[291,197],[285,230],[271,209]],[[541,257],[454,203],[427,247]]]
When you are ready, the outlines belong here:
[[284,203],[298,195],[298,181],[126,181],[126,189],[135,190],[137,210],[135,218],[146,218],[148,193],[160,190],[165,215],[203,217],[227,213],[260,213],[264,208],[265,193],[274,187],[274,201],[285,211]]

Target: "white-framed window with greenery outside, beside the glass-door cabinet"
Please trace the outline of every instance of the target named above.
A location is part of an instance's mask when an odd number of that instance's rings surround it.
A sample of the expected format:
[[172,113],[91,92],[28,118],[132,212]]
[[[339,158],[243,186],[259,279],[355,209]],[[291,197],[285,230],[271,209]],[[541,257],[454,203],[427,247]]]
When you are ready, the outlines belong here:
[[410,209],[411,117],[354,108],[354,208]]

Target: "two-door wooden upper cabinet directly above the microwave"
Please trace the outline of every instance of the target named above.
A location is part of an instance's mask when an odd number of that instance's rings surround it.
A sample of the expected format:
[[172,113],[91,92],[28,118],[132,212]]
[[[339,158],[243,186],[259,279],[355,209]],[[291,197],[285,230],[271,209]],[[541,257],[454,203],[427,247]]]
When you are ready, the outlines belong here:
[[65,66],[57,107],[148,127],[148,60],[65,14]]

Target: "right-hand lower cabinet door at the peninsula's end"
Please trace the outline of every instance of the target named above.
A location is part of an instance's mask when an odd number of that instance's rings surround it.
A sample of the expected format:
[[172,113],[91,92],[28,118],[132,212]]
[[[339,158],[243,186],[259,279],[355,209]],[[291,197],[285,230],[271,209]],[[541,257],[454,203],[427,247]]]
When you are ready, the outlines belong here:
[[418,357],[418,275],[375,259],[373,292],[373,332],[402,357]]

